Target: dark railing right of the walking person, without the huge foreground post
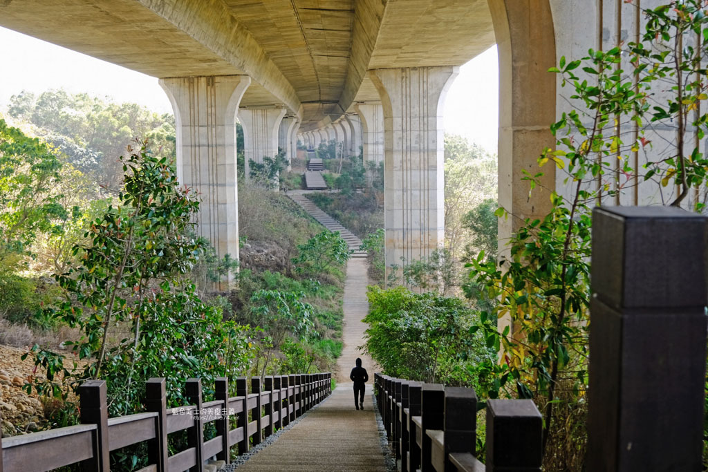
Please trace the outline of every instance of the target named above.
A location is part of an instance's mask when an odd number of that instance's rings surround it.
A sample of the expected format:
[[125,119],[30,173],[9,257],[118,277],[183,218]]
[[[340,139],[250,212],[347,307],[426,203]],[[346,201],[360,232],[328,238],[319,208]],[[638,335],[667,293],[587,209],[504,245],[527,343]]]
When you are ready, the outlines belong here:
[[486,464],[474,456],[474,388],[374,375],[377,407],[405,472],[541,471],[542,420],[530,400],[488,400]]

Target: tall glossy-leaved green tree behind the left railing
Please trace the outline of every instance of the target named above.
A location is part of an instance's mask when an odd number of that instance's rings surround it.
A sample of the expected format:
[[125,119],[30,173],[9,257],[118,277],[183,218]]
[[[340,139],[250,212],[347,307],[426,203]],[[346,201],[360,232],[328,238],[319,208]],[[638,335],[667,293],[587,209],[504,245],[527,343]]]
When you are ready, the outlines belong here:
[[141,410],[150,376],[166,376],[169,404],[180,405],[186,379],[210,386],[215,376],[245,372],[253,356],[249,328],[223,321],[186,277],[205,246],[188,236],[198,202],[179,186],[171,162],[144,145],[122,162],[118,205],[93,221],[86,246],[74,247],[80,263],[57,275],[66,300],[51,313],[81,330],[67,345],[83,369],[35,345],[46,381],[28,386],[66,400],[81,382],[100,377],[111,415]]

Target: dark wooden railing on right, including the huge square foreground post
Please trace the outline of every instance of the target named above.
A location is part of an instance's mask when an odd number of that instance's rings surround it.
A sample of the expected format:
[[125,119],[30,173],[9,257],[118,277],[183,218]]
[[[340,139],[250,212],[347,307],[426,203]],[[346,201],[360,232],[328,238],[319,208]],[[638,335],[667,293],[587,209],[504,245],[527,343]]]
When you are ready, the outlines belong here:
[[[593,212],[586,470],[702,471],[708,219],[674,207]],[[375,375],[403,471],[540,471],[530,400],[486,401],[486,464],[474,458],[477,398]]]

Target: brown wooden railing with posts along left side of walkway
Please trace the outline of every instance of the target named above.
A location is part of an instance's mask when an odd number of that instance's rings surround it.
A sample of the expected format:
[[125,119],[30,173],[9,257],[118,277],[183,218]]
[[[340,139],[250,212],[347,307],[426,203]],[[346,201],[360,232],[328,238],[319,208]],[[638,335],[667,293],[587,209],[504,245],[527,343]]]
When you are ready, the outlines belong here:
[[[167,408],[165,379],[145,384],[145,413],[108,418],[105,381],[87,381],[79,388],[81,425],[7,437],[0,442],[0,472],[44,472],[81,464],[82,471],[109,471],[109,454],[122,447],[147,443],[149,466],[139,472],[202,472],[207,459],[229,463],[232,447],[239,454],[263,437],[288,425],[331,393],[331,374],[296,374],[236,379],[236,396],[219,378],[215,400],[202,401],[200,379],[190,379],[185,393],[190,405]],[[236,418],[236,427],[232,420]],[[204,426],[214,423],[216,436],[205,441]],[[188,448],[169,455],[167,435],[186,430]]]

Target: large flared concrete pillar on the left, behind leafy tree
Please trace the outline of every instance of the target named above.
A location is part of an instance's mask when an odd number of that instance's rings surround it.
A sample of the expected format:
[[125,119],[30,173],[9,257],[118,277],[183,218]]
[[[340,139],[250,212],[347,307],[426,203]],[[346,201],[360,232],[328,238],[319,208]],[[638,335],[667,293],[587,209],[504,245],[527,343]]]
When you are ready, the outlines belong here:
[[212,243],[219,258],[229,254],[238,260],[236,111],[251,78],[173,77],[159,84],[175,114],[177,177],[200,192],[198,234]]

